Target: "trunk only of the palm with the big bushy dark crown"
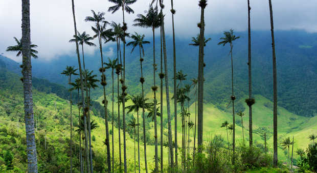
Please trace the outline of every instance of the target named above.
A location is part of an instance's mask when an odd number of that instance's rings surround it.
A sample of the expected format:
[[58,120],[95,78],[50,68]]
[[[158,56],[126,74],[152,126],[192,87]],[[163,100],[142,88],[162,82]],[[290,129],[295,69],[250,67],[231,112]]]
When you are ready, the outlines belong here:
[[157,159],[157,122],[156,122],[156,85],[155,85],[155,71],[156,71],[156,64],[155,64],[155,28],[152,28],[153,31],[153,83],[154,83],[154,143],[155,143],[155,170],[159,170],[159,162]]

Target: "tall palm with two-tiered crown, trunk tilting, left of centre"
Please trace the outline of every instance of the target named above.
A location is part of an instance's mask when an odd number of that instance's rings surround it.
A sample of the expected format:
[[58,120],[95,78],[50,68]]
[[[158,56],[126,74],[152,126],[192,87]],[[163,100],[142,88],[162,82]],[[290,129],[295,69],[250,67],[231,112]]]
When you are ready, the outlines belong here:
[[[92,30],[95,32],[95,38],[98,37],[98,42],[99,42],[99,49],[100,49],[100,55],[101,55],[101,69],[100,72],[102,73],[101,75],[101,85],[103,86],[103,105],[104,105],[104,113],[105,113],[105,126],[106,126],[106,142],[107,142],[107,163],[108,163],[108,171],[111,172],[111,156],[110,156],[110,145],[109,145],[109,127],[108,127],[108,111],[107,111],[107,97],[106,97],[106,91],[105,91],[105,85],[107,84],[106,82],[106,76],[104,74],[104,67],[103,67],[103,55],[102,55],[102,39],[105,41],[108,41],[111,39],[111,29],[106,30],[106,25],[109,23],[107,21],[104,21],[104,15],[105,13],[103,12],[96,12],[92,10],[93,16],[87,16],[85,18],[85,21],[91,21],[95,23],[95,27],[92,26]],[[92,153],[90,153],[90,162],[92,163]]]

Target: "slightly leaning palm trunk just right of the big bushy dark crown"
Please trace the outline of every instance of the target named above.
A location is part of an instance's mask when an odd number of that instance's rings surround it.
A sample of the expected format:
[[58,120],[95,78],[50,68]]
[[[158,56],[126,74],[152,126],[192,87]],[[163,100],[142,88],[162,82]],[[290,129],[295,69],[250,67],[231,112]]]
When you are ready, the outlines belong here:
[[[171,123],[171,108],[170,108],[170,96],[169,96],[169,83],[168,83],[168,69],[167,69],[167,54],[166,54],[166,38],[165,38],[165,24],[164,24],[164,15],[163,8],[165,7],[163,4],[163,0],[152,0],[151,5],[156,2],[160,4],[160,14],[161,14],[161,28],[162,28],[162,41],[163,41],[163,54],[164,54],[164,77],[165,77],[165,91],[166,91],[166,108],[167,108],[167,119],[168,119],[168,145],[170,151],[170,166],[173,168],[174,166],[174,154],[173,154],[173,146],[175,147],[175,165],[177,167],[177,138],[175,142],[172,141],[172,123]],[[175,77],[175,76],[174,76]],[[174,91],[175,93],[175,91]],[[177,111],[175,109],[175,117],[177,115]]]

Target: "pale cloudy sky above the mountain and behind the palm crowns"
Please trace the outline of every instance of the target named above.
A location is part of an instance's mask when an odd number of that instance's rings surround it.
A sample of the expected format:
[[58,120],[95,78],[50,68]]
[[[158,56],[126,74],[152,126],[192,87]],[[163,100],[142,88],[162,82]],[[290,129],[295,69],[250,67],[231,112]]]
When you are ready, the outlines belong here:
[[[205,10],[206,34],[219,33],[233,28],[236,31],[247,29],[246,0],[209,0]],[[151,38],[150,28],[131,26],[138,13],[148,9],[150,0],[138,0],[130,7],[134,14],[126,14],[128,32],[144,33]],[[166,33],[172,32],[170,1],[165,0]],[[93,35],[91,22],[85,22],[86,16],[91,16],[90,10],[106,12],[107,21],[122,22],[122,11],[115,14],[107,12],[114,4],[107,0],[75,0],[77,28],[79,32],[86,31]],[[71,0],[31,0],[31,40],[37,44],[39,57],[50,60],[63,54],[74,54],[74,44],[69,43],[74,35],[74,24],[71,11]],[[274,23],[276,30],[302,29],[307,32],[317,32],[316,0],[273,0]],[[251,0],[252,30],[268,30],[268,1]],[[200,21],[198,0],[174,0],[176,37],[192,37],[198,33],[197,23]],[[0,0],[0,54],[20,62],[16,53],[6,52],[6,47],[15,45],[13,37],[21,37],[21,1]],[[157,30],[159,34],[159,30]],[[92,54],[96,48],[87,49]],[[111,54],[111,49],[105,52]]]

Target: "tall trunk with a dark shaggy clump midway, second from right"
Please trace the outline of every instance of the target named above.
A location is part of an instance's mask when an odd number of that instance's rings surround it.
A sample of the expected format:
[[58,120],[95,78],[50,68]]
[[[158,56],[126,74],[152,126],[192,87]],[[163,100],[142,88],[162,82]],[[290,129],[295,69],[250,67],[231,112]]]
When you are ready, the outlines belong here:
[[[247,10],[248,10],[248,76],[249,76],[249,100],[252,98],[252,74],[251,74],[251,24],[250,24],[250,0],[247,0]],[[249,146],[252,146],[253,135],[252,135],[252,104],[249,106]],[[243,140],[244,141],[244,140]]]

